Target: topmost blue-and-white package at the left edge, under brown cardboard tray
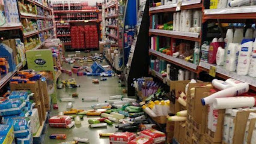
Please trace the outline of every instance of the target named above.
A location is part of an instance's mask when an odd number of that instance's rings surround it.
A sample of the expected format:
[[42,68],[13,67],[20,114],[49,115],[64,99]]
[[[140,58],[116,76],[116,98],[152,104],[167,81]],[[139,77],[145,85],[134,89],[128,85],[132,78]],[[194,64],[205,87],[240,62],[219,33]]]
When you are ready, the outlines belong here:
[[26,103],[20,99],[5,100],[0,104],[1,116],[19,115]]

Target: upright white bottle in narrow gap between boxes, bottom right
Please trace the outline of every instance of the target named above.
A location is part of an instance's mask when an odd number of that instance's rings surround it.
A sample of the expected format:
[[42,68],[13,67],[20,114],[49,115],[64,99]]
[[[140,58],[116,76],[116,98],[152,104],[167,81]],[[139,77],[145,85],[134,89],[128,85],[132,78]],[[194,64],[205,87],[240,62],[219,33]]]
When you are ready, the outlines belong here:
[[232,112],[232,109],[226,109],[225,110],[224,126],[223,126],[223,134],[222,134],[222,140],[224,140],[225,143],[228,143],[228,134],[229,134],[229,131],[230,131],[231,112]]

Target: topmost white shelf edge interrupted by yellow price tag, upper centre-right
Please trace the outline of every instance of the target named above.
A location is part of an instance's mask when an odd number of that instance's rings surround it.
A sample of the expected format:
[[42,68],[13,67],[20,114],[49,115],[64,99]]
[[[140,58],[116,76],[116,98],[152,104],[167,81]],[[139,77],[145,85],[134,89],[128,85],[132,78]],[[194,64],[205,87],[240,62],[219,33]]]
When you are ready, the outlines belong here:
[[[200,4],[200,3],[201,3],[201,0],[191,0],[191,1],[182,2],[181,6]],[[177,3],[176,4],[170,4],[170,5],[160,5],[159,7],[151,7],[149,9],[149,11],[164,10],[164,9],[174,8],[174,7],[177,7]]]

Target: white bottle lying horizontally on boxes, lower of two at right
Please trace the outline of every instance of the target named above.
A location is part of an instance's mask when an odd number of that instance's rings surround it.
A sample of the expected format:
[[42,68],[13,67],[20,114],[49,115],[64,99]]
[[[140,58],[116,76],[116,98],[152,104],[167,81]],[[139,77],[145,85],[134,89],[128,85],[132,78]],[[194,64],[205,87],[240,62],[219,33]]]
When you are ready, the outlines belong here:
[[214,109],[231,109],[238,107],[253,107],[255,105],[254,97],[227,97],[215,98],[213,101]]

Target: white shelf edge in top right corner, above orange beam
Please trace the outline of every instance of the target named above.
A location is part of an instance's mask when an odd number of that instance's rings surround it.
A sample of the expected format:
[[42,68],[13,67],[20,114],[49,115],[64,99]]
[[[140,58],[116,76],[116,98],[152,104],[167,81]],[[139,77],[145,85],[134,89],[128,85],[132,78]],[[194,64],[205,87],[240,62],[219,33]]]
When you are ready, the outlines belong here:
[[204,14],[237,14],[237,13],[256,13],[256,5],[245,7],[233,7],[233,8],[219,8],[204,10]]

